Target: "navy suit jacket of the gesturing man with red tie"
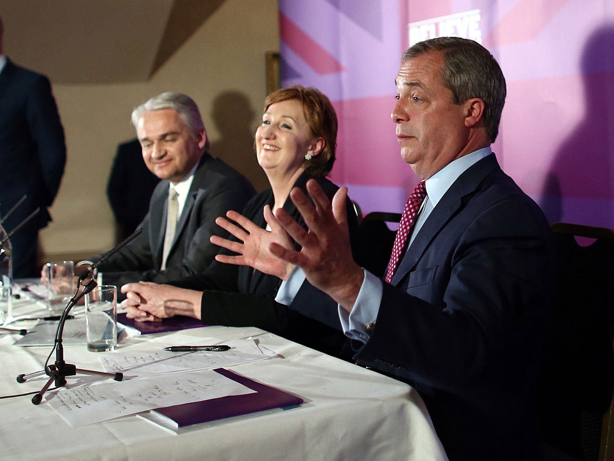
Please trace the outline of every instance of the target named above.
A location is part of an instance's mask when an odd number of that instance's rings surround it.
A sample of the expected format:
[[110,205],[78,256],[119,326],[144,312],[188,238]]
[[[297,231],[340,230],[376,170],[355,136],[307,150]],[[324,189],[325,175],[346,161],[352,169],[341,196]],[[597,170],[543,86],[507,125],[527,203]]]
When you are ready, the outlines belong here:
[[492,154],[448,189],[383,284],[356,358],[418,390],[451,461],[538,456],[531,398],[552,272],[542,211]]

